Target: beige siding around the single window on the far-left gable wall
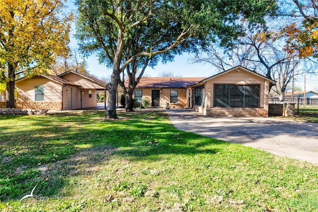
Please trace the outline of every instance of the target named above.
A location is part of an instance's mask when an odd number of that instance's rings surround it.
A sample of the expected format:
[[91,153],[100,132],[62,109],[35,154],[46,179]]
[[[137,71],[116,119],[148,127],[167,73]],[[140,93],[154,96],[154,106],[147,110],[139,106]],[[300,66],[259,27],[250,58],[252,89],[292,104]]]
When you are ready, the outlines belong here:
[[[44,102],[61,102],[62,85],[46,78],[26,79],[16,83],[17,101],[35,101],[35,86],[44,87]],[[41,101],[42,102],[42,101]]]

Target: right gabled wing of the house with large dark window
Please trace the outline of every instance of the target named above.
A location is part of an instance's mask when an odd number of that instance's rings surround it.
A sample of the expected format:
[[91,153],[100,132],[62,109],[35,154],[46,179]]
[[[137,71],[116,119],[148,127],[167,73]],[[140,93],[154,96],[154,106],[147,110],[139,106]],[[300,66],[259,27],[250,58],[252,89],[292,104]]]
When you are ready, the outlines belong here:
[[237,66],[188,86],[187,95],[194,110],[206,115],[267,117],[270,83],[274,81]]

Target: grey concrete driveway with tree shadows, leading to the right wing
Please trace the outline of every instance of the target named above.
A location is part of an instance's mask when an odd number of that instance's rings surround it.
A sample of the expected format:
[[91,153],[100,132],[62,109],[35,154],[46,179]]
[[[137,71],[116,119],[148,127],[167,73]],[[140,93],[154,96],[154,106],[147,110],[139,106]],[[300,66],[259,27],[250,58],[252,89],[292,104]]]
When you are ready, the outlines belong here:
[[271,117],[209,117],[191,109],[166,111],[180,130],[318,164],[318,123]]

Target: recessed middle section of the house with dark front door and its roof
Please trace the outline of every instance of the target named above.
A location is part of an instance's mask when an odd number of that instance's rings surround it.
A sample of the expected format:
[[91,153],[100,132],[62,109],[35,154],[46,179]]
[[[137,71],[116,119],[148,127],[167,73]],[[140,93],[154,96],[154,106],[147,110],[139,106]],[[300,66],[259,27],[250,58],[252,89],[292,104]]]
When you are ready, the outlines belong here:
[[152,107],[184,108],[186,87],[205,78],[143,77],[140,79],[133,97],[137,104],[148,98]]

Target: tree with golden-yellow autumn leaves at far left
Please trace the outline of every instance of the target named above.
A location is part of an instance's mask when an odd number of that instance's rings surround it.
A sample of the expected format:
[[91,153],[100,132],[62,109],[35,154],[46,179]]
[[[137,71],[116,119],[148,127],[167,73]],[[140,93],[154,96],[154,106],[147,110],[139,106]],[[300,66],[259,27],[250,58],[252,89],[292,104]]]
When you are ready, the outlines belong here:
[[45,72],[55,55],[68,53],[71,14],[63,0],[1,0],[0,80],[14,107],[16,76]]

